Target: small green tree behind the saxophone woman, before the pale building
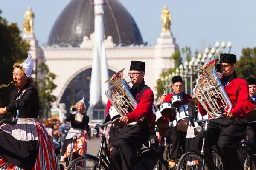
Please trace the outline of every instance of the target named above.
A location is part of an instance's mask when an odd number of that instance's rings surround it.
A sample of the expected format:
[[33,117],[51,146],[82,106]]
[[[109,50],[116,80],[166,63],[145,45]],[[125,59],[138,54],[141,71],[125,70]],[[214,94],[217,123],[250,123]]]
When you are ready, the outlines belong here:
[[52,91],[57,87],[53,83],[56,75],[51,73],[48,66],[43,62],[38,65],[38,72],[44,77],[44,79],[38,78],[37,80],[40,103],[39,116],[44,118],[49,116],[51,105],[56,100],[56,96],[52,95]]

